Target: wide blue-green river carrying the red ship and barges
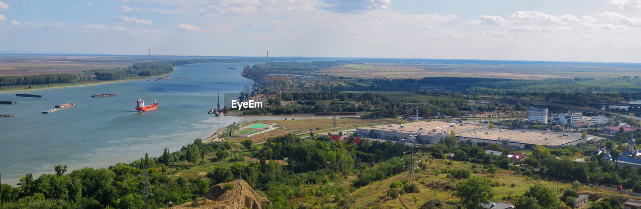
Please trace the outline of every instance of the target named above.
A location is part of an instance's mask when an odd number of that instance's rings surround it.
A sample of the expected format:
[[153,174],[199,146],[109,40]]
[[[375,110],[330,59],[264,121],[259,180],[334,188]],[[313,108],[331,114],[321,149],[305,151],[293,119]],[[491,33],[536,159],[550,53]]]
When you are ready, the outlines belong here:
[[[165,148],[179,150],[194,139],[204,139],[217,128],[234,122],[262,118],[221,117],[207,114],[217,102],[217,92],[240,92],[251,82],[240,76],[243,63],[181,66],[169,75],[172,81],[131,81],[96,86],[47,89],[23,93],[42,98],[15,97],[0,93],[0,173],[2,183],[15,185],[24,174],[52,173],[58,164],[72,169],[107,167],[159,156]],[[251,65],[251,64],[250,64]],[[228,70],[225,66],[234,66]],[[187,77],[190,79],[176,79]],[[99,93],[118,97],[90,98]],[[138,97],[160,104],[156,111],[136,112]],[[42,114],[54,105],[76,103],[76,107]],[[282,119],[282,117],[278,117]],[[273,118],[276,119],[276,118]]]

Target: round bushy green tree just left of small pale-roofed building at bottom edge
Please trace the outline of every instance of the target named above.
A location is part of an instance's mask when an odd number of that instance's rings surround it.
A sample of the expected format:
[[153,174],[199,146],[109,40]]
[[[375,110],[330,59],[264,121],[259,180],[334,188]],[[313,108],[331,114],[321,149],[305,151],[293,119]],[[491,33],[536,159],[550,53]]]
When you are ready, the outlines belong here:
[[472,176],[468,180],[462,180],[456,184],[454,196],[461,198],[461,203],[465,208],[478,208],[479,204],[487,204],[494,197],[492,180],[480,176]]

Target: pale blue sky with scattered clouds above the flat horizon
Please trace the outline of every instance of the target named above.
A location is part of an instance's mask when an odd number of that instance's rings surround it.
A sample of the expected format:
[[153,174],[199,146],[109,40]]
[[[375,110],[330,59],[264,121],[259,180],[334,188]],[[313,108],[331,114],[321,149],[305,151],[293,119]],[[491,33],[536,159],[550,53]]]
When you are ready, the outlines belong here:
[[0,52],[641,63],[641,0],[0,0]]

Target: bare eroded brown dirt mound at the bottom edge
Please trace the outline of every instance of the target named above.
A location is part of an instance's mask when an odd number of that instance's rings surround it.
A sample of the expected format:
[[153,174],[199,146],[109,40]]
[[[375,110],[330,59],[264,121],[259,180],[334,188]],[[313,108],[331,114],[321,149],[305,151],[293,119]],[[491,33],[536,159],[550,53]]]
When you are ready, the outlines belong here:
[[[233,189],[230,186],[233,185]],[[204,194],[204,199],[197,199],[196,204],[185,203],[177,208],[252,208],[262,209],[263,205],[271,205],[267,197],[260,196],[249,187],[244,180],[215,185]]]

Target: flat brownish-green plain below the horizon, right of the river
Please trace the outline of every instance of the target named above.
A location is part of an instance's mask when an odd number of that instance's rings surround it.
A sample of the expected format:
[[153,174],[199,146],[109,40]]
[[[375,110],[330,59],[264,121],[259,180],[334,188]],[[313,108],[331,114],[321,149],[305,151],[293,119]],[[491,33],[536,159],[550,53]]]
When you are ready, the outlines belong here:
[[[374,67],[374,65],[376,65]],[[482,77],[494,79],[572,79],[575,77],[617,78],[639,75],[640,68],[585,65],[445,65],[362,63],[339,65],[323,70],[322,74],[358,78],[410,77]]]

